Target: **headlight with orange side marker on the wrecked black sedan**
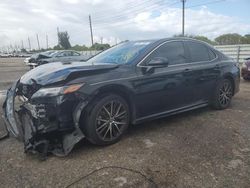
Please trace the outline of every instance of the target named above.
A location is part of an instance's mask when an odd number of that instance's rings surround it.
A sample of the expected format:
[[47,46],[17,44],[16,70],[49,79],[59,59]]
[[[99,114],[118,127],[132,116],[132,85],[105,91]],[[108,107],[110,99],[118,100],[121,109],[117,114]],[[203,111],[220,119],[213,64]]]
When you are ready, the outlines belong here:
[[80,89],[84,84],[74,84],[63,87],[41,88],[32,95],[32,98],[37,97],[54,97],[63,94],[69,94]]

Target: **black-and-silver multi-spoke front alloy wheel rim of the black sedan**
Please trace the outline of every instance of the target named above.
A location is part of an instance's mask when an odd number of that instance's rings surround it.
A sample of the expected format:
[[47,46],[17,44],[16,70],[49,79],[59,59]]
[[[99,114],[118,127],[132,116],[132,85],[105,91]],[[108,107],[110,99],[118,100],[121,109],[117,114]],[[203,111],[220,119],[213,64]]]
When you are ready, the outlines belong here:
[[119,101],[103,105],[96,117],[96,133],[104,141],[118,138],[128,124],[128,112]]

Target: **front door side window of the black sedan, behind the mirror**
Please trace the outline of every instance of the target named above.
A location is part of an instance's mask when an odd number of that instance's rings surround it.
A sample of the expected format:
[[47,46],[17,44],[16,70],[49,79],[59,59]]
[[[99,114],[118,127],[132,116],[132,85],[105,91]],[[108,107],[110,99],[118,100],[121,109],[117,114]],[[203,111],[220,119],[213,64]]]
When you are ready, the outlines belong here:
[[180,41],[167,42],[157,48],[146,60],[146,64],[156,57],[167,58],[169,65],[186,63],[184,46]]

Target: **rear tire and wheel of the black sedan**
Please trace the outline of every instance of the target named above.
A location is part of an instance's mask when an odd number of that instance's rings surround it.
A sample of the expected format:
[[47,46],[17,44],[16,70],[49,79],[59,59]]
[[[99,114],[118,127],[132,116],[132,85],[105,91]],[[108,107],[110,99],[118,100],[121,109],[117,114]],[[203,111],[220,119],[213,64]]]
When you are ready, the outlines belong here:
[[212,106],[215,109],[223,110],[227,108],[233,97],[233,84],[229,79],[223,79],[216,87]]

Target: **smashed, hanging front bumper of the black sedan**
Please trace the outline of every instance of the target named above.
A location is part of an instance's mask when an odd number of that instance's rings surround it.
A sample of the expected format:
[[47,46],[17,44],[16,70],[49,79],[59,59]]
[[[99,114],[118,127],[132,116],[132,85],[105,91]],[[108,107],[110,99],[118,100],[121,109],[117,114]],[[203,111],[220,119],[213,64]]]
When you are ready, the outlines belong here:
[[[25,152],[43,156],[48,153],[57,156],[69,154],[74,145],[85,137],[79,121],[87,103],[82,99],[67,101],[64,96],[46,102],[32,102],[18,93],[18,85],[19,81],[7,91],[3,104],[8,132],[24,142]],[[69,104],[71,107],[68,108]]]

